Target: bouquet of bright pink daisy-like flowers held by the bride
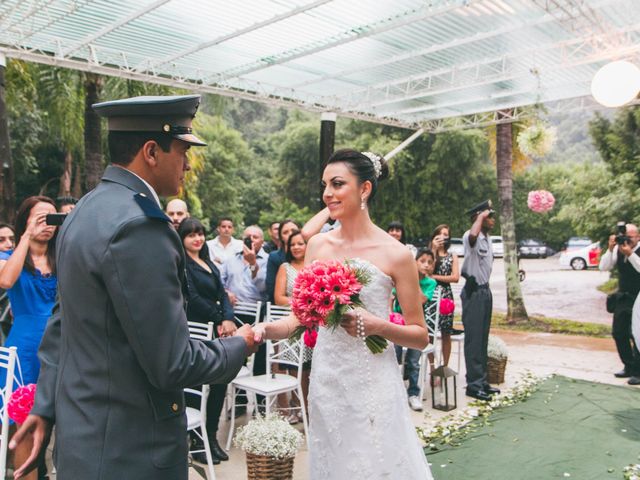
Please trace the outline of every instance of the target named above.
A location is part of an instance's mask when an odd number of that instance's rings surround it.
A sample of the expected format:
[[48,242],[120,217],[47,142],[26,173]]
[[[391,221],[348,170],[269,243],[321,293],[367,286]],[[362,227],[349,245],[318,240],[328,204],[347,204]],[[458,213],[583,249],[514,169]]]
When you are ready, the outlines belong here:
[[[360,290],[370,281],[366,269],[350,261],[318,260],[304,267],[296,276],[291,296],[291,310],[300,322],[291,339],[304,335],[304,342],[313,348],[317,327],[335,329],[343,315],[356,307],[362,307]],[[377,335],[365,340],[373,353],[387,348],[387,341]]]

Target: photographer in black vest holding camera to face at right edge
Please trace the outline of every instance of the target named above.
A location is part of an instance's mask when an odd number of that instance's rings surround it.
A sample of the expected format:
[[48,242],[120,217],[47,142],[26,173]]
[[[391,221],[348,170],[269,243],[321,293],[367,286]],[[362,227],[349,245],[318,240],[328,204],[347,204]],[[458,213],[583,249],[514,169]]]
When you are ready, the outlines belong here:
[[607,311],[613,313],[611,334],[624,368],[614,375],[628,378],[629,385],[640,385],[640,352],[631,334],[633,303],[640,292],[638,227],[618,222],[616,234],[609,237],[607,251],[600,259],[600,270],[618,270],[618,291],[607,298]]

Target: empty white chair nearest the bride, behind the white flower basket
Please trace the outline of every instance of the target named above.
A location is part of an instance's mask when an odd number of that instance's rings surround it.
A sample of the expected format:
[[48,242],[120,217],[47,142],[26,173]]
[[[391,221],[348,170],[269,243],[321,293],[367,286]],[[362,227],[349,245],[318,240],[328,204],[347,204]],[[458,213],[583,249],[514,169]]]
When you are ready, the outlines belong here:
[[[267,321],[272,321],[278,316],[288,314],[285,312],[286,307],[276,307],[267,304]],[[276,313],[277,312],[277,313]],[[245,390],[247,394],[262,395],[265,397],[265,412],[268,415],[271,412],[273,404],[276,402],[278,395],[281,393],[291,392],[298,397],[299,406],[289,407],[291,411],[300,410],[302,412],[302,422],[304,425],[304,433],[307,439],[307,447],[309,441],[309,426],[307,422],[307,412],[304,405],[304,397],[302,394],[302,364],[304,358],[304,343],[302,338],[296,342],[289,342],[288,339],[283,340],[267,340],[267,373],[265,375],[257,375],[253,377],[236,378],[231,382],[231,411],[235,410],[235,390]],[[296,377],[285,373],[270,373],[273,363],[291,365],[297,368]],[[231,415],[231,425],[229,426],[229,437],[227,438],[227,450],[231,448],[231,440],[235,429],[235,415]]]

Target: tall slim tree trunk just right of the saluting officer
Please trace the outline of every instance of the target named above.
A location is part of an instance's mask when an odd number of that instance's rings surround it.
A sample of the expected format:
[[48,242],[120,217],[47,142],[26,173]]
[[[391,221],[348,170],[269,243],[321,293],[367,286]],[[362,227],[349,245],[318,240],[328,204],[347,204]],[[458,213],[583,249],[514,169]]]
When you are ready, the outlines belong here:
[[[508,118],[510,112],[498,112],[498,119]],[[496,171],[498,196],[500,197],[500,225],[504,241],[504,274],[507,285],[507,322],[529,321],[524,306],[520,279],[518,278],[518,252],[516,229],[513,217],[513,157],[514,124],[501,123],[496,126]],[[517,146],[516,146],[517,150]]]

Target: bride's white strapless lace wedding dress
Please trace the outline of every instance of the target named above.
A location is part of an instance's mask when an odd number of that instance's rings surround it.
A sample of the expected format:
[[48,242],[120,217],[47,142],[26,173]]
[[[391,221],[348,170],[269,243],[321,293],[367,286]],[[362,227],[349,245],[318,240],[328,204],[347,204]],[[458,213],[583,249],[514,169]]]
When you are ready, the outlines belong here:
[[[360,298],[376,316],[389,316],[393,282],[375,265]],[[409,414],[393,345],[374,355],[338,327],[321,328],[309,391],[312,480],[432,479]]]

